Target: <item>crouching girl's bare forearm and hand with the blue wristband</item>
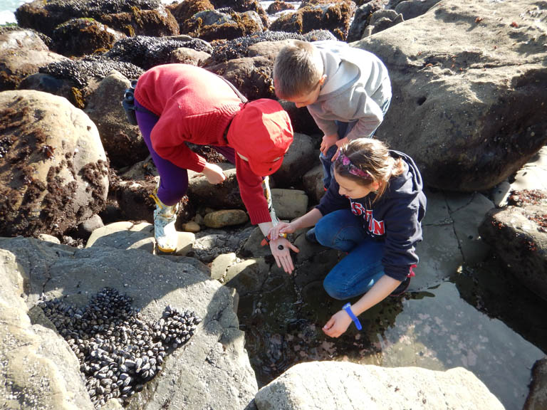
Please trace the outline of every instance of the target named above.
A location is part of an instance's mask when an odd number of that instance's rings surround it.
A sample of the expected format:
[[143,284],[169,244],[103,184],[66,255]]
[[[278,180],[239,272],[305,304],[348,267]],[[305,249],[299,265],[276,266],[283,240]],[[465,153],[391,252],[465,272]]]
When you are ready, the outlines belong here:
[[[370,290],[361,296],[361,298],[351,305],[351,310],[355,316],[359,316],[361,313],[372,308],[377,303],[387,298],[390,293],[397,288],[401,283],[400,280],[390,278],[390,276],[383,275]],[[339,337],[348,330],[351,325],[351,317],[345,310],[339,310],[336,312],[330,320],[323,326],[323,332],[330,337]]]

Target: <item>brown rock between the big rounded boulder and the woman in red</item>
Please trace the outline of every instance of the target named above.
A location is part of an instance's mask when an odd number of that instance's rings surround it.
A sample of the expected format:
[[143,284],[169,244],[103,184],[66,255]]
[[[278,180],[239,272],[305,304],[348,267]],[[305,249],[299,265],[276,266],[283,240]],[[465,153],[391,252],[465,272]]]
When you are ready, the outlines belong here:
[[92,82],[87,90],[84,112],[97,125],[110,164],[116,168],[135,164],[150,154],[139,127],[125,121],[120,102],[129,86],[130,80],[113,71],[98,84]]

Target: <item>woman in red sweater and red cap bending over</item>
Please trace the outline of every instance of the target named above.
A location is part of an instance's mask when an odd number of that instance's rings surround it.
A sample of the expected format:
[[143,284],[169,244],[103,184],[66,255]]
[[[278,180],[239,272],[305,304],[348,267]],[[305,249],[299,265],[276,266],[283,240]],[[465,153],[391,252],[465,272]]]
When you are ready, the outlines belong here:
[[[276,172],[293,141],[291,120],[275,100],[242,102],[231,85],[204,68],[186,64],[157,65],[142,74],[135,88],[137,122],[160,174],[155,191],[155,238],[163,252],[177,246],[174,221],[188,188],[187,169],[202,172],[211,184],[226,176],[187,146],[210,145],[236,164],[241,199],[252,224],[262,233],[272,226],[262,179]],[[270,242],[278,266],[290,272],[285,238]]]

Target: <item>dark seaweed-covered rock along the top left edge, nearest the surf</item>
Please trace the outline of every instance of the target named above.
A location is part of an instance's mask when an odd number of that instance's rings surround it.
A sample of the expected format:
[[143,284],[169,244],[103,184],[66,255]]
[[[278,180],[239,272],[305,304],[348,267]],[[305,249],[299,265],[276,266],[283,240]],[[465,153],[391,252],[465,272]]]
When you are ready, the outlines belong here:
[[166,11],[160,0],[34,0],[20,6],[15,16],[19,26],[51,36],[56,26],[70,19],[89,17],[108,24],[103,16],[141,10]]

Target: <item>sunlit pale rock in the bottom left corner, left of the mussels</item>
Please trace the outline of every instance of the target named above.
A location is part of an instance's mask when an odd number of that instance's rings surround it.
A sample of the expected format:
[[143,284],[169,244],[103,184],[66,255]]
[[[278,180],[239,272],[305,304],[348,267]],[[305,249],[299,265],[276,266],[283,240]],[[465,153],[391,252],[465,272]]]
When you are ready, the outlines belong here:
[[[35,251],[49,251],[46,243],[35,243]],[[93,410],[78,359],[45,322],[31,320],[32,306],[25,303],[30,267],[4,249],[0,258],[0,406]]]

